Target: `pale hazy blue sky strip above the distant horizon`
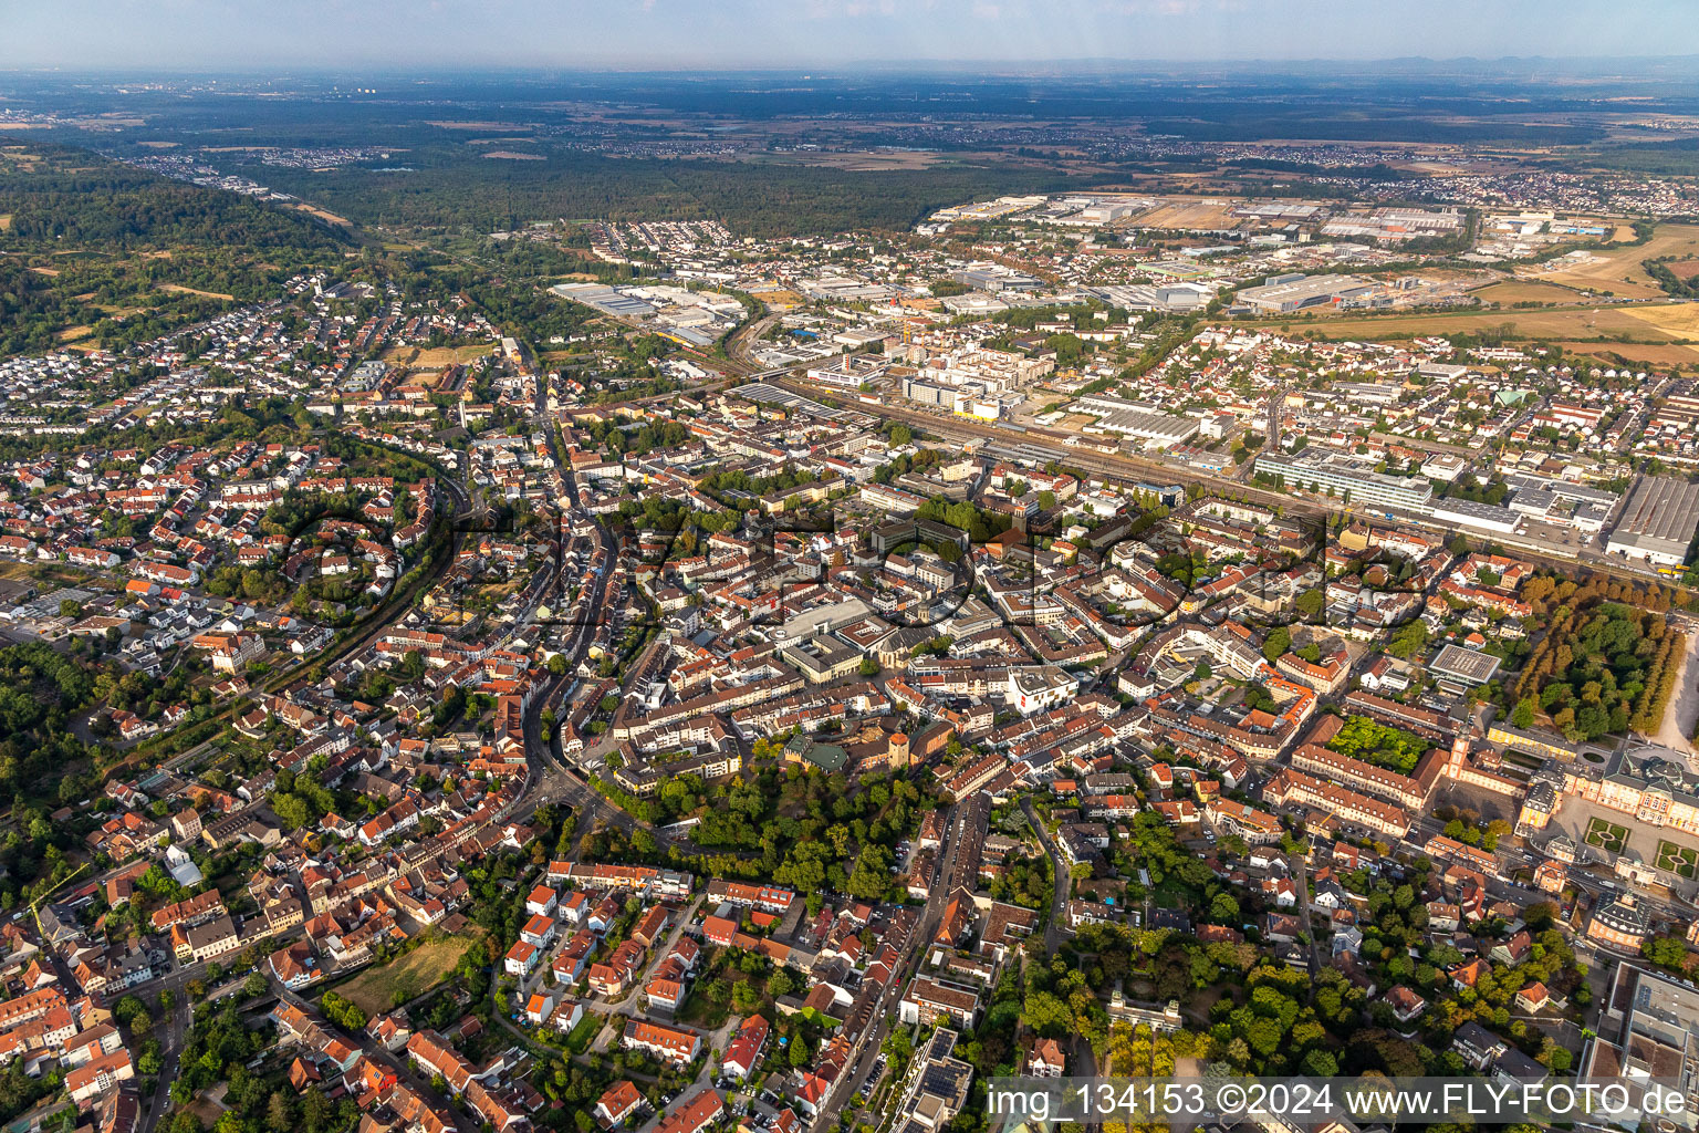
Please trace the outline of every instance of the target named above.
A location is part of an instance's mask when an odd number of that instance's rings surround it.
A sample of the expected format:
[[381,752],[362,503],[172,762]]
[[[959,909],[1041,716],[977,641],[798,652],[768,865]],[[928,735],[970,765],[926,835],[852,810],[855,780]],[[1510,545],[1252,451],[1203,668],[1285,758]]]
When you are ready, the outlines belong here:
[[0,68],[1699,54],[1696,0],[0,0]]

